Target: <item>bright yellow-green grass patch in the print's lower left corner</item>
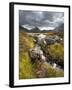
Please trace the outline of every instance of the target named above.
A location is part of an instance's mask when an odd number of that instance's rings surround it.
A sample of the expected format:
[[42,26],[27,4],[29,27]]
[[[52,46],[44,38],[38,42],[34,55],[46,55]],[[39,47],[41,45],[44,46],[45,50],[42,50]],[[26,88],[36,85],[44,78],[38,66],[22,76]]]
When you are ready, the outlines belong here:
[[19,62],[19,78],[26,79],[26,78],[34,78],[33,67],[30,60],[30,57],[27,52],[20,53],[20,62]]

